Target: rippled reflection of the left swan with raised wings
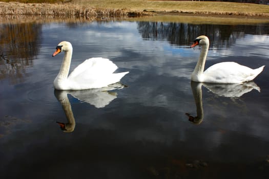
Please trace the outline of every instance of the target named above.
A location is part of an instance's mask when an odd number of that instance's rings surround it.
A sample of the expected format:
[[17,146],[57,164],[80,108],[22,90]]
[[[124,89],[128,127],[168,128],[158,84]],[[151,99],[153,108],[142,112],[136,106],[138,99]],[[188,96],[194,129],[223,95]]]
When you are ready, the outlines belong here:
[[56,122],[60,125],[60,128],[64,132],[72,132],[75,129],[75,118],[73,115],[71,103],[68,99],[68,94],[72,95],[74,98],[78,99],[81,102],[87,102],[91,105],[94,105],[96,108],[105,107],[111,101],[117,98],[116,92],[111,92],[115,89],[121,89],[126,87],[121,83],[114,83],[110,84],[107,87],[102,88],[94,88],[94,89],[85,89],[85,90],[76,90],[76,91],[69,91],[69,90],[54,90],[54,95],[57,100],[60,102],[61,106],[64,109],[66,114],[67,123]]

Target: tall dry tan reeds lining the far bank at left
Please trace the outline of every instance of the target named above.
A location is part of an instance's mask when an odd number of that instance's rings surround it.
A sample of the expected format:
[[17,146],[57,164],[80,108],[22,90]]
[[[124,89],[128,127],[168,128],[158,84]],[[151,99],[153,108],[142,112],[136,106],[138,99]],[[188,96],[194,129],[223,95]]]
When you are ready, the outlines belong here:
[[91,8],[78,4],[24,4],[0,2],[0,15],[48,15],[55,17],[124,17],[142,16],[147,12],[136,12],[121,9]]

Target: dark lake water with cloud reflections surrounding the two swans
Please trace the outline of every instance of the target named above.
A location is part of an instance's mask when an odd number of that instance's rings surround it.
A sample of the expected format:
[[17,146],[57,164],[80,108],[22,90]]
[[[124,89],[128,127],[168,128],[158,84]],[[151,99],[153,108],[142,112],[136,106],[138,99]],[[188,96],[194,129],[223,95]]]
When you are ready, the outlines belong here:
[[[269,177],[269,24],[10,23],[0,35],[1,178]],[[211,42],[205,68],[264,71],[240,85],[191,83],[199,35]],[[63,40],[71,70],[109,58],[130,72],[126,87],[55,91]]]

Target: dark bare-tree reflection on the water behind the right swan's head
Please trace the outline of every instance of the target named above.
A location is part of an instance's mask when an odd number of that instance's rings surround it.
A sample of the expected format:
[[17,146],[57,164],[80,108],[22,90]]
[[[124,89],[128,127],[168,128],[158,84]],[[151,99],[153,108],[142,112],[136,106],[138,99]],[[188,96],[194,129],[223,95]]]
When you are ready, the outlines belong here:
[[139,21],[137,28],[142,38],[151,40],[167,40],[171,44],[184,46],[193,41],[198,35],[211,39],[214,48],[230,47],[236,39],[245,34],[269,34],[268,25],[212,25],[212,24],[187,24]]

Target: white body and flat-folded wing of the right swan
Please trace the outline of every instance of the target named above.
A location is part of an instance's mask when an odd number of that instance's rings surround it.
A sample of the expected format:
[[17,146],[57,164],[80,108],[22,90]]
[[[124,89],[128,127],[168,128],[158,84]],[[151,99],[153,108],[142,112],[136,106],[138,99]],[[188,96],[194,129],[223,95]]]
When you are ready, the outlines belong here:
[[260,72],[257,69],[253,70],[236,62],[222,62],[214,64],[204,71],[203,81],[212,83],[242,83],[253,80]]

